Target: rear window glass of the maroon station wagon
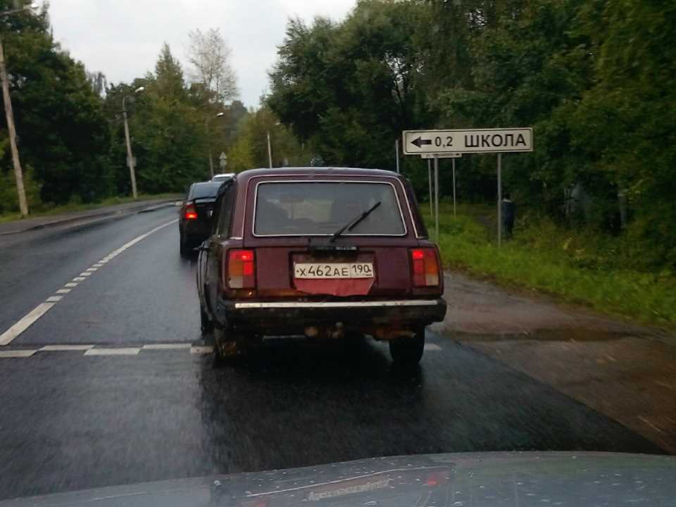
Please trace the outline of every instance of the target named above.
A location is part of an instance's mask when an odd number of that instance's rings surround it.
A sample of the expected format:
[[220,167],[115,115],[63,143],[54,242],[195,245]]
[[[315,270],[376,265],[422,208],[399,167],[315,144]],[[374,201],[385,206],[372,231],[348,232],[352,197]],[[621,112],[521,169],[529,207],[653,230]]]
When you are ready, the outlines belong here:
[[372,213],[343,234],[406,234],[394,186],[387,182],[261,182],[253,233],[329,236],[377,203]]

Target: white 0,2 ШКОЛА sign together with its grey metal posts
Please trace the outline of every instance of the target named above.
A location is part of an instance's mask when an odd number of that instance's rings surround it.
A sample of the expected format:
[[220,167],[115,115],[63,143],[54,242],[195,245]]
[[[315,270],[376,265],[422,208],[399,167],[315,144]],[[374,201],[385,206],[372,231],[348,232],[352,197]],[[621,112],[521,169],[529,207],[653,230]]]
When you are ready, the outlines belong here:
[[[532,128],[404,130],[403,153],[434,158],[435,230],[439,241],[439,158],[458,158],[461,154],[498,154],[498,245],[502,242],[502,154],[533,151]],[[429,166],[428,166],[429,167]],[[456,214],[456,171],[453,160],[453,215]]]

